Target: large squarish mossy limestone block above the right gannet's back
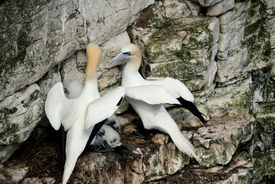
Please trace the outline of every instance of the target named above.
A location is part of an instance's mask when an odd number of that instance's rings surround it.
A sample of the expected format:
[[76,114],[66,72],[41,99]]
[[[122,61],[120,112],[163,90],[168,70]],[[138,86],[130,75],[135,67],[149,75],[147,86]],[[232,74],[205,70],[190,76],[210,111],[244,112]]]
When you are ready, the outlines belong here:
[[179,18],[165,23],[165,29],[133,29],[144,53],[143,74],[179,79],[190,90],[209,88],[217,70],[212,57],[219,38],[217,18]]

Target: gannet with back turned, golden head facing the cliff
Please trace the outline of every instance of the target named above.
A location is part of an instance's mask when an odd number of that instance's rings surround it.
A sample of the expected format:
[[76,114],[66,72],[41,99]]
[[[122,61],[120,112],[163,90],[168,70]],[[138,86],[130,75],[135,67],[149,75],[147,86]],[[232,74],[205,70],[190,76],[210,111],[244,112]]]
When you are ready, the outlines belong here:
[[56,83],[47,94],[47,118],[55,130],[63,125],[67,131],[63,184],[69,180],[78,156],[118,108],[125,93],[125,89],[119,87],[100,97],[96,77],[100,57],[101,50],[98,45],[87,45],[86,81],[78,98],[67,99],[61,82]]

